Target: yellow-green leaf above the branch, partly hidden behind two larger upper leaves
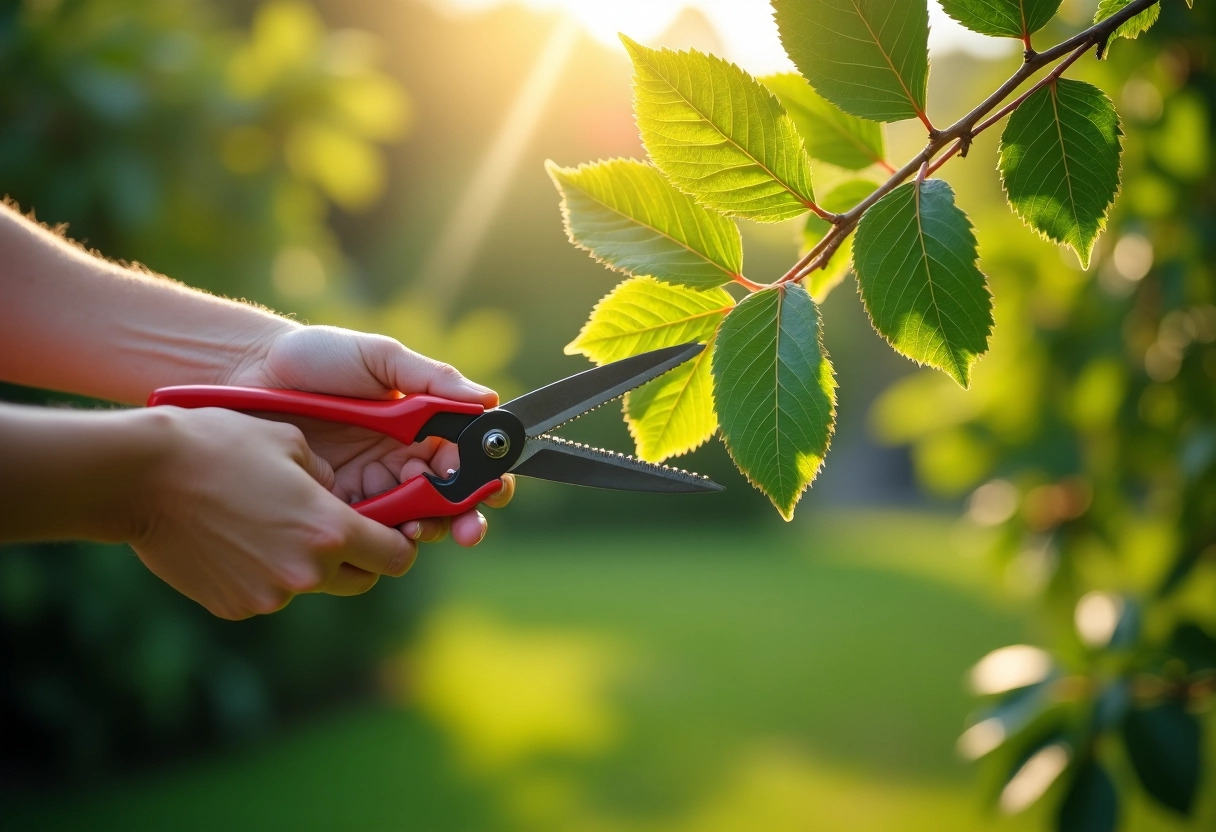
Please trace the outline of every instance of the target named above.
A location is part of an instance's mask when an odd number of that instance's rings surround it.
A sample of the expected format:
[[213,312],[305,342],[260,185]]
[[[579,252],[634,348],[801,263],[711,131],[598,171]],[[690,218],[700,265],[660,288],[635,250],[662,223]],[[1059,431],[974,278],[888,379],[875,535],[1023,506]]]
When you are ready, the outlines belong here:
[[883,127],[850,116],[792,72],[760,79],[781,101],[812,159],[860,170],[885,159]]

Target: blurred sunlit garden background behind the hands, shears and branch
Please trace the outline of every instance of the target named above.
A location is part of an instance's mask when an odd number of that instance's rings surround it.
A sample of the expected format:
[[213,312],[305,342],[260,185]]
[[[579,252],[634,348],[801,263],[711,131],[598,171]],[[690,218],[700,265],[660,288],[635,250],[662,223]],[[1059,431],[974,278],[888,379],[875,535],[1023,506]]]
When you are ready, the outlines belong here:
[[[1094,5],[1064,0],[1036,45]],[[1008,210],[996,130],[942,169],[996,296],[969,392],[891,353],[848,283],[828,298],[839,423],[793,523],[714,442],[681,465],[724,495],[522,482],[477,550],[243,623],[123,547],[0,550],[2,826],[1035,830],[1068,780],[1036,749],[1064,737],[1109,766],[1125,828],[1216,827],[1211,766],[1186,820],[1119,738],[1160,702],[1211,729],[1216,690],[1216,17],[1195,6],[1070,71],[1126,134],[1090,271]],[[584,369],[562,347],[618,282],[567,242],[542,168],[642,156],[618,30],[789,69],[750,0],[2,0],[0,193],[506,399]],[[936,9],[931,49],[939,124],[1020,61]],[[888,142],[901,162],[923,135]],[[753,280],[798,257],[796,221],[743,232]],[[613,407],[564,433],[630,443]]]

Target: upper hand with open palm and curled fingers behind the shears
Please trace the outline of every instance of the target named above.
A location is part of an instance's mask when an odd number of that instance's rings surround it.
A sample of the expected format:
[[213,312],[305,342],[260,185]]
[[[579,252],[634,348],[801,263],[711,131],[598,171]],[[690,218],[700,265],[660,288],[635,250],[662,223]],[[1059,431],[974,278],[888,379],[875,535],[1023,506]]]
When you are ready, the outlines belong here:
[[[225,383],[359,399],[430,393],[485,407],[499,403],[494,390],[474,384],[446,364],[406,349],[393,338],[330,326],[276,332],[269,344],[237,367]],[[291,422],[333,468],[332,491],[347,502],[387,491],[423,472],[443,477],[460,466],[456,446],[440,439],[406,446],[365,428],[303,418]],[[502,490],[485,505],[497,508],[511,500],[514,477],[507,474],[502,482]],[[449,528],[456,543],[473,546],[485,536],[486,521],[474,510],[451,518],[412,521],[400,530],[412,540],[430,543],[443,539]]]

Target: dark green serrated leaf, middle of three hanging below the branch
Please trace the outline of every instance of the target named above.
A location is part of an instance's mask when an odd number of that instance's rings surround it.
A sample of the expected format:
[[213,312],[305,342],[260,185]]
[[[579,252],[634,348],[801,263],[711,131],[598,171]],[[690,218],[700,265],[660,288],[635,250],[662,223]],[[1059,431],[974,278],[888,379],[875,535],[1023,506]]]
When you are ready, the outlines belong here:
[[970,384],[987,352],[992,296],[975,265],[975,234],[940,179],[906,182],[857,225],[854,269],[874,328],[899,353]]

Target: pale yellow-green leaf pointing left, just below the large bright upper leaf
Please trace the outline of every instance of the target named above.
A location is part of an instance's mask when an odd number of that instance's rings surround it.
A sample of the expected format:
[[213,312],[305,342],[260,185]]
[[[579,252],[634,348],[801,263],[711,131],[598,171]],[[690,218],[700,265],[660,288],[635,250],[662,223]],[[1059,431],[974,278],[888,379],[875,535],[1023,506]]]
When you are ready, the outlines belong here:
[[610,159],[545,169],[562,193],[570,241],[630,275],[720,286],[743,270],[739,230],[674,189],[653,165]]

